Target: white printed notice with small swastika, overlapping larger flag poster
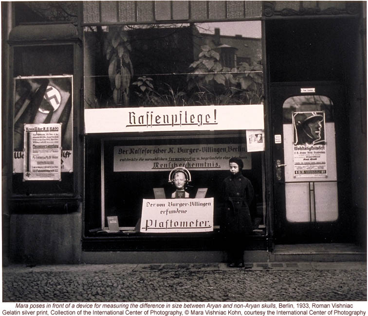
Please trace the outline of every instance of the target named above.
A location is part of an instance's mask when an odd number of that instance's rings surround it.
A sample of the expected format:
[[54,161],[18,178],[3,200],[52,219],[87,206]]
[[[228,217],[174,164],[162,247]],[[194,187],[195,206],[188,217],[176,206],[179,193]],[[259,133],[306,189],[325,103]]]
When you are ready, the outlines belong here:
[[61,180],[61,124],[24,124],[24,180]]

